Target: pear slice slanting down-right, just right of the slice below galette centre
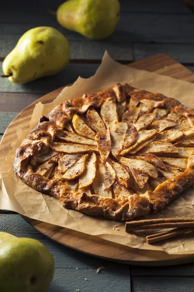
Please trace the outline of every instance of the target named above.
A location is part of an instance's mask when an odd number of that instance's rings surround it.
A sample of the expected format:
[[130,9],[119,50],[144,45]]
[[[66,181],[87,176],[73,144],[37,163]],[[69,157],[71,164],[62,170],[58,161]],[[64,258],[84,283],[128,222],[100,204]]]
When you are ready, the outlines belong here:
[[113,161],[110,158],[108,159],[108,163],[111,164],[111,166],[115,170],[117,181],[128,187],[130,176],[125,166]]

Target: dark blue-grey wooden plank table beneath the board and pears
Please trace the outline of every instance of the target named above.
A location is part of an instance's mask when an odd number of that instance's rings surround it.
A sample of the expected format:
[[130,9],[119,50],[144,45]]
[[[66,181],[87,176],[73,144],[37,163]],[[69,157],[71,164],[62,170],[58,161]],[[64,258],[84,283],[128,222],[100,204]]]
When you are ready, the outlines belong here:
[[[55,27],[67,37],[71,47],[69,65],[56,76],[26,85],[0,80],[1,136],[16,114],[37,98],[74,82],[79,75],[93,75],[105,50],[122,63],[166,53],[194,72],[194,14],[181,0],[121,0],[117,29],[113,36],[101,41],[92,41],[65,30],[54,16],[47,13],[48,8],[56,10],[62,2],[9,0],[0,4],[0,63],[14,48],[19,37],[37,26]],[[50,292],[194,291],[194,264],[150,268],[108,262],[50,240],[17,214],[0,213],[0,231],[36,238],[49,248],[55,259]],[[97,274],[100,266],[107,270]]]

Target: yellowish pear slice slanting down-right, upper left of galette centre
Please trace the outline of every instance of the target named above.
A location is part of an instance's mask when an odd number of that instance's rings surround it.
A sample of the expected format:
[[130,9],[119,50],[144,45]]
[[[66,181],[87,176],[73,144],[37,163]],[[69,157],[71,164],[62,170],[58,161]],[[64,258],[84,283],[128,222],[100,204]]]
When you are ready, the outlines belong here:
[[79,135],[95,140],[95,132],[89,128],[77,114],[74,114],[72,124],[73,128]]

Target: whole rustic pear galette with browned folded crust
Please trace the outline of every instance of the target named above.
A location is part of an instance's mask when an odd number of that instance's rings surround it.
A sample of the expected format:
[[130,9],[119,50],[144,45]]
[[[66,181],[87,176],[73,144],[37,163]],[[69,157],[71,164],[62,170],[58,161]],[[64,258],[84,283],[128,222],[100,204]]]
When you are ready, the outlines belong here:
[[88,215],[157,212],[194,183],[194,110],[118,83],[66,100],[23,139],[14,171]]

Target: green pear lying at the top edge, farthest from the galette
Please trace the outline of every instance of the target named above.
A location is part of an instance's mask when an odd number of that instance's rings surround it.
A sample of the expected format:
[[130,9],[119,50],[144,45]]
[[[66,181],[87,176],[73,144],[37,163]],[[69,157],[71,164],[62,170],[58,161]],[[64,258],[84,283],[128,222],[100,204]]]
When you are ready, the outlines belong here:
[[57,9],[57,20],[85,37],[102,39],[113,34],[119,13],[118,0],[67,0]]

